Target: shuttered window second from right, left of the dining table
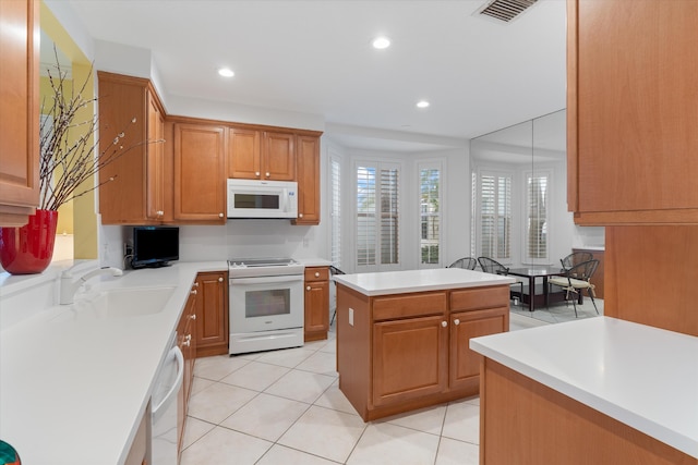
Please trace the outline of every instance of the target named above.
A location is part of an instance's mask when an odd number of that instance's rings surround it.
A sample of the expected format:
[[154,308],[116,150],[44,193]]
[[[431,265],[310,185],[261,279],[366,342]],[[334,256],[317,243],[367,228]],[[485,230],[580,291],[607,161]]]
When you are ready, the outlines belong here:
[[500,261],[512,258],[512,175],[480,175],[480,254]]

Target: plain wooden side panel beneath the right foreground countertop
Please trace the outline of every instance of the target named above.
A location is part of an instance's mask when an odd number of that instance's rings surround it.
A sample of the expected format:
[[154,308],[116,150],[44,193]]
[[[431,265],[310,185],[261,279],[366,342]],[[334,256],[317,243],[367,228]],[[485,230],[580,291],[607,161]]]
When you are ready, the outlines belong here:
[[481,465],[698,463],[490,358],[481,381]]

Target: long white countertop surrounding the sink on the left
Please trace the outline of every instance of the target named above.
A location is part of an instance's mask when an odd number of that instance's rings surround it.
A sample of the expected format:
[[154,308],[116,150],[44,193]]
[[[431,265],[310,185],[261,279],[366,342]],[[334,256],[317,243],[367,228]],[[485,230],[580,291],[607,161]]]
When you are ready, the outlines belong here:
[[177,262],[89,281],[92,291],[176,286],[158,314],[71,318],[53,306],[4,328],[0,438],[26,464],[123,463],[196,273],[218,270],[227,264]]

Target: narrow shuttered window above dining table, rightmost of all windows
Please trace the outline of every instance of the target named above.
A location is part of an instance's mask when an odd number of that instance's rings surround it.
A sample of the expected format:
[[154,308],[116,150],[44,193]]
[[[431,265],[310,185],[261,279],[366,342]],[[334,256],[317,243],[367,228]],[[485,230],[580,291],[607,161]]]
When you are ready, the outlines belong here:
[[549,173],[526,173],[526,258],[547,258]]

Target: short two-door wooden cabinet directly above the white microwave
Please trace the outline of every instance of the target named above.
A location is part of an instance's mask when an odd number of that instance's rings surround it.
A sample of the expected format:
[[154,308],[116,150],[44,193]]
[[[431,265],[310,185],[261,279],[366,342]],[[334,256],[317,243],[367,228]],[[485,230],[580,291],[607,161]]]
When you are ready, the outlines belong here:
[[228,178],[294,181],[293,133],[230,127]]

